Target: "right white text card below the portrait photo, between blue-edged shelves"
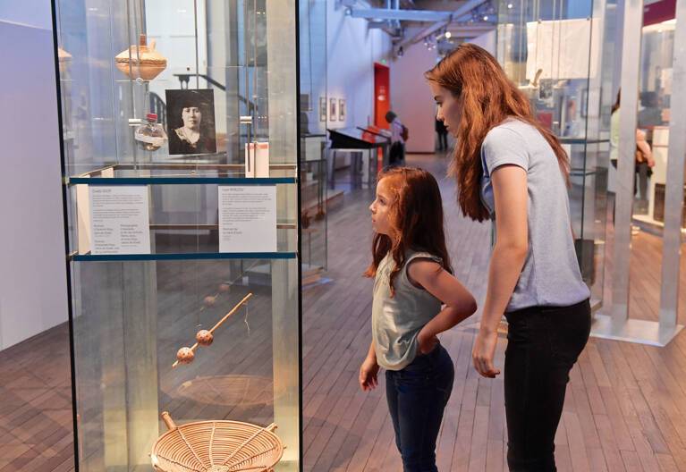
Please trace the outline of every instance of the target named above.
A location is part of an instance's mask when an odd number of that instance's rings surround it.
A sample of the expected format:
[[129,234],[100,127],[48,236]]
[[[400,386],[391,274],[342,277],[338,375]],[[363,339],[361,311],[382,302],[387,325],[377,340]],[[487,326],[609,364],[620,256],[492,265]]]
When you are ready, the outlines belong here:
[[276,252],[276,187],[219,186],[219,252]]

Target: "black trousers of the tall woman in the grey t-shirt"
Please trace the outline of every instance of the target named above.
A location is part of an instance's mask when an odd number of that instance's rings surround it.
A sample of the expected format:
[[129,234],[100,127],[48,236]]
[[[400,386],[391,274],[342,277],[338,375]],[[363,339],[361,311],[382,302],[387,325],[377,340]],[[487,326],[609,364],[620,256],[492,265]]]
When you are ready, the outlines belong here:
[[507,464],[512,472],[555,472],[555,432],[570,370],[589,341],[590,303],[505,317]]

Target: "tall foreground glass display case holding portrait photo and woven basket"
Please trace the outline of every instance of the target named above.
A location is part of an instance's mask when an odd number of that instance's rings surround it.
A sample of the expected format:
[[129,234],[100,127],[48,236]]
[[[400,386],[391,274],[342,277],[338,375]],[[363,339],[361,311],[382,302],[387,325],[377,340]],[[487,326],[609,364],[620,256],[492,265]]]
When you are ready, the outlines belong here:
[[54,5],[78,469],[299,470],[297,3]]

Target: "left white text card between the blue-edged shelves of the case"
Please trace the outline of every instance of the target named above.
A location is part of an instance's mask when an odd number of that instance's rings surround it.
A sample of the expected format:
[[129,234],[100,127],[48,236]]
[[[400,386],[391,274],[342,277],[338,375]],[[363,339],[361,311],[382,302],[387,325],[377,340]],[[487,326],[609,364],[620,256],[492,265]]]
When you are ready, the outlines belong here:
[[150,254],[148,187],[90,186],[93,255]]

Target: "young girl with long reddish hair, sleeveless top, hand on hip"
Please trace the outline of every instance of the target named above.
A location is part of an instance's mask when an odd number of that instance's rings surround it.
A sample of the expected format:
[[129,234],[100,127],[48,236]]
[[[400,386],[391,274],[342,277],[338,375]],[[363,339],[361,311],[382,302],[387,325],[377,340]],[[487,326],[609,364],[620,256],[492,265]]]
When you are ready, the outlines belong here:
[[[453,390],[453,361],[436,334],[477,310],[453,277],[445,248],[441,192],[421,169],[380,175],[371,210],[374,242],[367,272],[374,277],[372,342],[360,387],[385,391],[404,472],[436,472],[436,438]],[[445,307],[444,307],[445,305]]]

